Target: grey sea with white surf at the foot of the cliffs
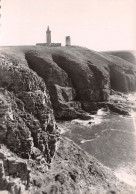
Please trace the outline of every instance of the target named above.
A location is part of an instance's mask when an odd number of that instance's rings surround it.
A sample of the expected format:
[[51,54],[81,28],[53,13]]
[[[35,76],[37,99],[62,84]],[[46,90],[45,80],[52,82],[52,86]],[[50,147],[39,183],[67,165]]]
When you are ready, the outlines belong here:
[[[128,98],[136,102],[136,93]],[[59,122],[62,135],[136,188],[136,112],[132,110],[129,116],[123,116],[99,109],[91,117]]]

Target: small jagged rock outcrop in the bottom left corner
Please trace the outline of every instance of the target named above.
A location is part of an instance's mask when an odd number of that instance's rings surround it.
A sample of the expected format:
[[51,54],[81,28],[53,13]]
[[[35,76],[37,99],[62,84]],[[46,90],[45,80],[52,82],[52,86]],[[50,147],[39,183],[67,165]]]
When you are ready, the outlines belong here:
[[18,158],[5,146],[0,148],[0,190],[16,194],[25,192],[29,188],[31,170],[27,161]]

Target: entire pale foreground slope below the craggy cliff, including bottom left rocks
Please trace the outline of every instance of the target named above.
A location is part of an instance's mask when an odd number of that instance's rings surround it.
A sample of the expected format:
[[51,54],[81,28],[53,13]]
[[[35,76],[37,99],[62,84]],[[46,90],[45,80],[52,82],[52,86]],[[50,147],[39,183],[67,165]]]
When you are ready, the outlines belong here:
[[41,155],[38,158],[21,159],[1,146],[0,190],[11,194],[134,193],[69,139],[60,138],[48,166]]

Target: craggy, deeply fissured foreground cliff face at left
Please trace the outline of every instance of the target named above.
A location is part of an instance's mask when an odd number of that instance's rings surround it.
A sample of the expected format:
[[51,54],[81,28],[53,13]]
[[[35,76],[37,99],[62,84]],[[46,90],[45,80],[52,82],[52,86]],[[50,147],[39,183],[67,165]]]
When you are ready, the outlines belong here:
[[35,157],[36,148],[50,161],[57,129],[43,80],[5,56],[0,64],[0,87],[1,143],[24,158]]

